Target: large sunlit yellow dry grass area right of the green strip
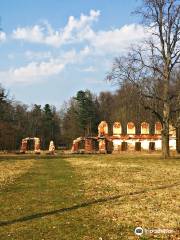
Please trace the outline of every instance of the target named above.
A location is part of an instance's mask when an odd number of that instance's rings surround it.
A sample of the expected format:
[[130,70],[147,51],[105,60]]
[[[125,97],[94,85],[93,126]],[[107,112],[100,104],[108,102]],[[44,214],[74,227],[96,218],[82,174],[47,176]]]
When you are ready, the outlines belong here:
[[[99,206],[97,219],[113,221],[117,226],[124,224],[125,228],[175,229],[169,239],[180,239],[179,160],[163,160],[158,155],[96,155],[68,161],[82,176],[88,199],[123,195]],[[168,187],[171,184],[177,185]],[[158,189],[161,186],[167,188]],[[141,190],[145,192],[128,196]],[[126,235],[128,239],[135,237]],[[151,236],[158,237],[168,239],[167,235]]]

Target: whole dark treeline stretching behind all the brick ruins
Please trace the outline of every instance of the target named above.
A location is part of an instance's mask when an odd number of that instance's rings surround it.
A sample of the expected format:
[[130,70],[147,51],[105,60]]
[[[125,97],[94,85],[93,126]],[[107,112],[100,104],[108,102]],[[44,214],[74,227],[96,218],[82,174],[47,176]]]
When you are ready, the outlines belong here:
[[[178,80],[175,88],[179,87]],[[157,108],[162,111],[161,104]],[[133,121],[140,133],[140,124],[147,121],[153,133],[158,118],[144,108],[137,89],[130,83],[114,93],[101,92],[98,96],[89,90],[79,91],[58,110],[49,104],[27,106],[14,101],[0,86],[1,151],[19,149],[25,137],[39,137],[42,149],[47,149],[51,140],[56,147],[71,147],[72,140],[79,136],[96,136],[102,120],[107,121],[110,134],[115,121],[121,122],[123,133],[127,122]]]

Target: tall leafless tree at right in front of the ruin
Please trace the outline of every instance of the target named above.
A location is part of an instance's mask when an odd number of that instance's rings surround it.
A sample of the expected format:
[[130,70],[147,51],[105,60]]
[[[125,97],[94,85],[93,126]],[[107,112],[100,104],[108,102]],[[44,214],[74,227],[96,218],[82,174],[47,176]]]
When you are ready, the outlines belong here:
[[[136,13],[142,16],[148,38],[126,56],[116,58],[108,75],[110,81],[134,84],[141,103],[159,118],[164,158],[169,157],[171,116],[180,111],[180,91],[172,76],[180,66],[179,3],[179,0],[143,0]],[[177,117],[176,124],[179,120]]]

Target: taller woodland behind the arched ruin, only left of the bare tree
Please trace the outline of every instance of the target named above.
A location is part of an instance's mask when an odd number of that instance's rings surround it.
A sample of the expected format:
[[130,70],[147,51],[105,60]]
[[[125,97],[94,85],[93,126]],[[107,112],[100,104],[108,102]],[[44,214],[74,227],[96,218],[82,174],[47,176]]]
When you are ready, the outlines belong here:
[[126,133],[129,121],[136,124],[139,133],[143,121],[150,123],[151,132],[157,121],[156,116],[144,109],[138,92],[131,84],[122,86],[115,93],[101,92],[98,96],[88,90],[79,91],[65,104],[61,117],[61,134],[67,145],[79,136],[97,136],[98,124],[103,120],[108,123],[109,134],[112,134],[115,121],[121,122],[123,133]]

